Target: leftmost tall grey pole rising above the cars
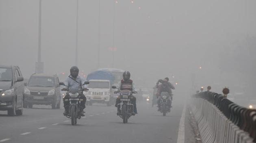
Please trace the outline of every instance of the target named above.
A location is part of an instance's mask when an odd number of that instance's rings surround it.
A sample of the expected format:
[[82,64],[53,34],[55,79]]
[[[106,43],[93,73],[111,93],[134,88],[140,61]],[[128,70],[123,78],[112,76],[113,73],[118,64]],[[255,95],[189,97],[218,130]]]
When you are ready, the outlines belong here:
[[42,0],[39,0],[39,24],[38,24],[38,56],[37,62],[41,62],[41,19],[42,17]]

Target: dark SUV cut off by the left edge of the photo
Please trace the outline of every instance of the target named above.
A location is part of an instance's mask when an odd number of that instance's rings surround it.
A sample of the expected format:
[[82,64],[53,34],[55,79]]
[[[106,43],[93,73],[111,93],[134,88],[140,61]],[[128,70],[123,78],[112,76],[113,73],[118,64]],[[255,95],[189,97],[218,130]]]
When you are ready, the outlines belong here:
[[0,110],[8,116],[23,114],[24,83],[18,66],[0,65]]

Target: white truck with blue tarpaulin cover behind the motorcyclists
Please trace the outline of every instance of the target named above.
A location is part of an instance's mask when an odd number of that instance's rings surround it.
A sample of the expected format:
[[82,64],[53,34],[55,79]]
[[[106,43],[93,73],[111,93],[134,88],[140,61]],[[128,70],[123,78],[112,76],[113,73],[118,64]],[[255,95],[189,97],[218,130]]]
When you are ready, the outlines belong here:
[[88,89],[86,93],[87,105],[93,103],[105,103],[107,106],[111,106],[115,103],[113,98],[113,91],[111,86],[113,85],[115,77],[109,71],[93,71],[87,75],[87,81],[89,81]]

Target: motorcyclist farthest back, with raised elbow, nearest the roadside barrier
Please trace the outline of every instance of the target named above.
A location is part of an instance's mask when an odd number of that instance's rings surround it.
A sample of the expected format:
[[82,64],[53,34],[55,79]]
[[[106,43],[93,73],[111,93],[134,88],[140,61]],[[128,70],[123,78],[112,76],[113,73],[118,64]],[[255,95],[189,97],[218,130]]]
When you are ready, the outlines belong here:
[[[158,86],[158,84],[162,83],[160,86]],[[175,87],[169,82],[169,78],[165,78],[164,80],[158,80],[158,82],[156,83],[156,87],[158,87],[157,90],[157,105],[158,105],[158,111],[160,110],[160,101],[161,101],[161,92],[168,92],[171,100],[172,100],[172,92],[171,89],[175,89]],[[169,103],[169,109],[171,108],[171,100],[168,99],[168,103]]]

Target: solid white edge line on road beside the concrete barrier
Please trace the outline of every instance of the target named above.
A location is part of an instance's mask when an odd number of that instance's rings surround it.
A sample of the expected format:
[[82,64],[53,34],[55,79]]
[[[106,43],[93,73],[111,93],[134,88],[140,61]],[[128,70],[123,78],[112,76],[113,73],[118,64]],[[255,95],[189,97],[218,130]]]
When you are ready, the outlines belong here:
[[185,135],[185,113],[186,113],[186,103],[184,104],[181,118],[180,118],[180,124],[179,124],[179,132],[178,132],[178,139],[177,143],[185,143],[184,135]]

